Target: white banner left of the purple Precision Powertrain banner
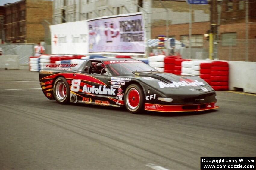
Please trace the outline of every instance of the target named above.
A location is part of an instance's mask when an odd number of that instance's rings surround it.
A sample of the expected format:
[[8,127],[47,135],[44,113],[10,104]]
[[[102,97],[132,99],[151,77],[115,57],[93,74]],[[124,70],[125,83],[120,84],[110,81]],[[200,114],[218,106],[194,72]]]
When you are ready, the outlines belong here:
[[86,21],[50,25],[52,54],[88,54]]

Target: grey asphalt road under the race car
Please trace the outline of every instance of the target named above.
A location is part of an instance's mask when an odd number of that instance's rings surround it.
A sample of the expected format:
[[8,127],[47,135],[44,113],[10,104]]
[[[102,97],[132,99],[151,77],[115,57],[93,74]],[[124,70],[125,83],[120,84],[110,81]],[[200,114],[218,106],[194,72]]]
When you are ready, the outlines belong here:
[[0,70],[1,170],[198,170],[201,156],[255,157],[256,95],[218,91],[213,111],[134,115],[60,105],[38,88],[37,72]]

